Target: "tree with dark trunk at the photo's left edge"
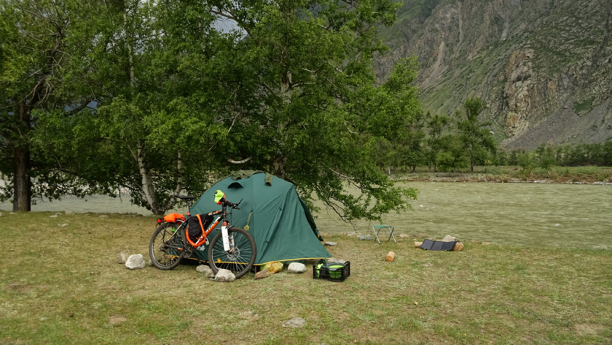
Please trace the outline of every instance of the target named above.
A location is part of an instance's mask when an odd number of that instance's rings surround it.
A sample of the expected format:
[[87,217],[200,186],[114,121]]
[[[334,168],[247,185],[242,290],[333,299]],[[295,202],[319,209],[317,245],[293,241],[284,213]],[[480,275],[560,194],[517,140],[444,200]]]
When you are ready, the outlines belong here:
[[0,1],[0,171],[11,178],[0,199],[12,196],[14,211],[31,210],[33,195],[84,192],[32,142],[40,114],[70,116],[89,103],[67,97],[61,78],[80,9],[70,0]]

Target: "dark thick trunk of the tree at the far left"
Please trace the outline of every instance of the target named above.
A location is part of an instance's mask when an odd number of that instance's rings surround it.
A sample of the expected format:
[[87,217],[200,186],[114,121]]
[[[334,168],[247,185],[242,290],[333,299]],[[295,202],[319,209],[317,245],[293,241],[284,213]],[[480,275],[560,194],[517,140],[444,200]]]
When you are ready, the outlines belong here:
[[[19,105],[19,120],[24,128],[30,128],[30,114],[22,102]],[[18,125],[18,126],[19,126]],[[27,131],[26,131],[27,133]],[[27,135],[27,134],[26,134]],[[24,138],[27,142],[27,137]],[[32,189],[30,181],[30,151],[28,146],[15,146],[15,163],[13,164],[13,211],[28,212],[32,210]]]

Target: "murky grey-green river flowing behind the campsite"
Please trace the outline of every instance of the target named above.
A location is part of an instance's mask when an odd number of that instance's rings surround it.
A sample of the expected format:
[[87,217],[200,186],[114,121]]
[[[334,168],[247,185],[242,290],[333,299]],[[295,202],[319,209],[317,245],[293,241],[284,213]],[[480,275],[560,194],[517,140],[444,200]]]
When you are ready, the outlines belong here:
[[[413,211],[384,217],[384,224],[395,227],[397,238],[400,233],[430,237],[449,234],[510,245],[612,248],[612,186],[450,182],[402,185],[417,188],[420,193],[419,199],[411,202]],[[0,210],[11,209],[10,203],[0,203]],[[32,206],[32,211],[151,215],[146,209],[131,205],[127,196],[119,199],[103,195],[39,202]],[[324,207],[315,216],[322,233],[371,233],[374,224],[367,221],[346,224]],[[388,232],[384,240],[387,237]]]

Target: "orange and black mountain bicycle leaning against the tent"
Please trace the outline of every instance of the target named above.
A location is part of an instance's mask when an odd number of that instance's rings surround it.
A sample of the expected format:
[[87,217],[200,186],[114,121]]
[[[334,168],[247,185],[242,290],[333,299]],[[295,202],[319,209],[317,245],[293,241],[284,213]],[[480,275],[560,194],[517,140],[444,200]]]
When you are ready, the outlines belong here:
[[[149,256],[153,265],[160,270],[171,270],[181,262],[182,258],[190,257],[194,249],[206,244],[208,264],[215,274],[221,268],[225,268],[234,273],[236,278],[240,278],[250,271],[257,252],[255,239],[246,230],[230,224],[231,210],[239,210],[240,202],[229,202],[223,192],[217,191],[215,202],[220,204],[222,209],[192,216],[189,201],[195,197],[192,195],[177,197],[187,203],[187,217],[177,217],[170,221],[163,218],[157,220],[157,229],[149,243]],[[182,216],[182,214],[176,215]],[[220,222],[221,231],[209,243],[209,233]]]

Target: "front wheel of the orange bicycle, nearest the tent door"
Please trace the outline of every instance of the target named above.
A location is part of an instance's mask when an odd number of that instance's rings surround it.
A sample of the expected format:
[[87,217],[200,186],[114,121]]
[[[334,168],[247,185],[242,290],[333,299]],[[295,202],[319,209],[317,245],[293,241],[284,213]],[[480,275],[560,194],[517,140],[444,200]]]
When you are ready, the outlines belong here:
[[244,276],[253,268],[255,262],[255,240],[253,236],[239,227],[228,229],[230,237],[230,251],[223,248],[222,233],[219,232],[212,238],[208,248],[208,264],[216,274],[220,269],[225,268],[234,273],[236,278]]

